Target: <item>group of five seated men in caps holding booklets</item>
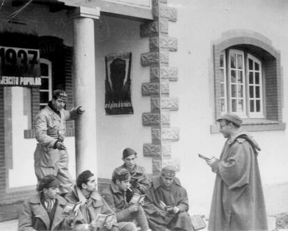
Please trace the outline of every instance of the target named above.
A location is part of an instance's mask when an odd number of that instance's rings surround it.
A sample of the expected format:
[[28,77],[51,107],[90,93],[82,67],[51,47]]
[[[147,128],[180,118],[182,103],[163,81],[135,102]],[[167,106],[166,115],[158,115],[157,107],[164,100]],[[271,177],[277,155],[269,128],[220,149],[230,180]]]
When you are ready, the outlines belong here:
[[136,165],[134,150],[126,148],[122,160],[101,195],[90,170],[79,174],[64,197],[55,175],[43,177],[38,193],[23,204],[18,230],[192,231],[187,193],[175,177],[175,167],[164,167],[150,180]]

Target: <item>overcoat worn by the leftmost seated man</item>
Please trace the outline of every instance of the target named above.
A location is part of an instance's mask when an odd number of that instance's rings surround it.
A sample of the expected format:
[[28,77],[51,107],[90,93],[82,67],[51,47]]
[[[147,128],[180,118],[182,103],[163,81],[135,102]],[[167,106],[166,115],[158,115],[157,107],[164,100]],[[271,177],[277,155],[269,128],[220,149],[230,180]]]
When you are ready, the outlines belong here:
[[35,194],[23,203],[22,212],[19,215],[18,231],[71,230],[62,215],[67,201],[58,196],[54,219],[51,223],[45,207],[40,202],[40,197],[40,194]]

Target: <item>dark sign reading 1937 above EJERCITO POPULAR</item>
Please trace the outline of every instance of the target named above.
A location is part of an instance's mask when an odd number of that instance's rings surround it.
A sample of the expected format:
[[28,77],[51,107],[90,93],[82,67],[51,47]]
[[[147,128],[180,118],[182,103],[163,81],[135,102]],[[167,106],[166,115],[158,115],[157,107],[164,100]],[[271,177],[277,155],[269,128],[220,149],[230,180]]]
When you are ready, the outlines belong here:
[[41,86],[39,49],[0,46],[0,86]]

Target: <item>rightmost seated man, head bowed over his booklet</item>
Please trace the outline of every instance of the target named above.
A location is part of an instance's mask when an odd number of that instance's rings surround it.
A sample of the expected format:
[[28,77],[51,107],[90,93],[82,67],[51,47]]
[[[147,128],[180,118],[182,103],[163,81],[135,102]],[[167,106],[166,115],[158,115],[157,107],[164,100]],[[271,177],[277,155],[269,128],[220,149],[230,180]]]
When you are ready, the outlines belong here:
[[186,189],[175,174],[175,166],[164,167],[146,192],[144,210],[152,230],[193,230]]

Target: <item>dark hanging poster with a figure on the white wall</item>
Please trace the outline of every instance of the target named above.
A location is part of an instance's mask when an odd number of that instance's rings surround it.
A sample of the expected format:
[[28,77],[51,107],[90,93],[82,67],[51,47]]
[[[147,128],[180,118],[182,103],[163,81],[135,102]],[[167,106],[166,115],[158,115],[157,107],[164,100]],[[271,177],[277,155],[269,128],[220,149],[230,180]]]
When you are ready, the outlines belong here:
[[106,115],[133,114],[130,89],[131,58],[131,52],[105,56]]

